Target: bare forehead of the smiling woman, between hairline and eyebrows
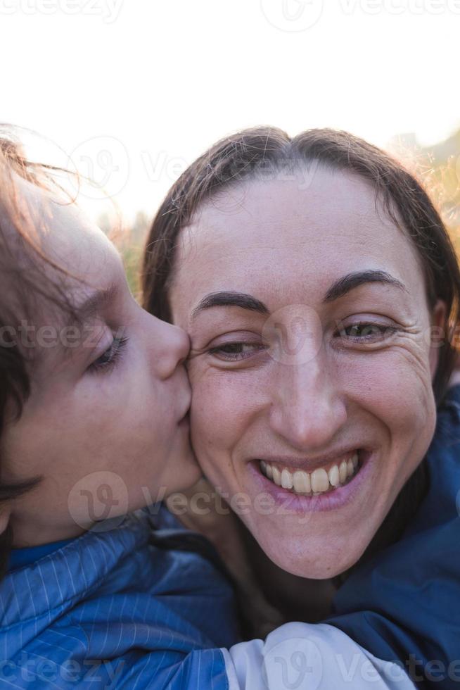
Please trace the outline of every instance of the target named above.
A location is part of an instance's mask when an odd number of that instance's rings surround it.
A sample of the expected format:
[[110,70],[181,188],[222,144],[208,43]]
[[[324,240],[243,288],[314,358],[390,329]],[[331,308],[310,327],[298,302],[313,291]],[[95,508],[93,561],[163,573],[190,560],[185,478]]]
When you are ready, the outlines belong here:
[[331,280],[357,270],[423,280],[416,249],[364,180],[318,169],[307,189],[300,182],[245,184],[203,206],[181,232],[173,303],[179,292],[255,287],[282,288],[293,298],[306,287],[322,294]]

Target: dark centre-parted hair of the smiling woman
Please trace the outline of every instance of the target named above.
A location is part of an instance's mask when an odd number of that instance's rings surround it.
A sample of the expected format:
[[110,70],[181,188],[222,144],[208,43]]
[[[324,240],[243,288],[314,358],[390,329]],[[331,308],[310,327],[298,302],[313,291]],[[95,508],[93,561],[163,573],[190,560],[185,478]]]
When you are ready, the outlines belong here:
[[[347,132],[307,130],[290,138],[272,127],[243,130],[221,139],[203,153],[173,184],[148,234],[143,260],[143,306],[158,318],[171,320],[168,289],[174,272],[179,232],[215,194],[246,180],[270,179],[315,166],[351,172],[375,189],[376,203],[414,243],[426,281],[430,308],[438,299],[447,307],[443,342],[433,390],[439,404],[456,360],[454,334],[459,324],[460,272],[445,225],[422,184],[388,153]],[[400,492],[370,551],[394,541],[426,491],[426,465],[421,463]],[[368,551],[368,553],[370,553]]]

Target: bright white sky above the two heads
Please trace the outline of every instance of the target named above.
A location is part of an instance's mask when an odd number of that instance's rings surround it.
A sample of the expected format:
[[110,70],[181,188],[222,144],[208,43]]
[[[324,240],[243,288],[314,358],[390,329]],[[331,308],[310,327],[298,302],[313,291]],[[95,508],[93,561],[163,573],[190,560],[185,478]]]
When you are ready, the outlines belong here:
[[0,120],[73,151],[127,214],[240,127],[385,146],[460,126],[460,0],[0,0],[0,22]]

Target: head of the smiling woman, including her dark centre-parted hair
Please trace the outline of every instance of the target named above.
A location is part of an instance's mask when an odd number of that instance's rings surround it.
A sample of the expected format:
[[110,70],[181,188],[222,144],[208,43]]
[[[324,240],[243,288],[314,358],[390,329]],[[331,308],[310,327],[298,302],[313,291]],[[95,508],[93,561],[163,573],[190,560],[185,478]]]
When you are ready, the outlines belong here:
[[227,137],[162,203],[143,287],[189,332],[194,449],[266,556],[305,594],[396,544],[433,488],[459,322],[456,257],[419,182],[345,132]]

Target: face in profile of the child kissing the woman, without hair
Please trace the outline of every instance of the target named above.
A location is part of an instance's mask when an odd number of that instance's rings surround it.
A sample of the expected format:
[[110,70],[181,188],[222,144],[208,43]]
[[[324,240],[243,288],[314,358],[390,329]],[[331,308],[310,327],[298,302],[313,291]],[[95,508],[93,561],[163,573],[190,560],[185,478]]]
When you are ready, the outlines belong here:
[[46,219],[46,255],[85,284],[65,285],[79,322],[41,300],[29,325],[32,394],[5,430],[2,479],[43,480],[11,507],[18,546],[71,537],[200,476],[185,417],[188,337],[136,303],[98,228],[69,206],[45,204],[36,189],[24,194]]

